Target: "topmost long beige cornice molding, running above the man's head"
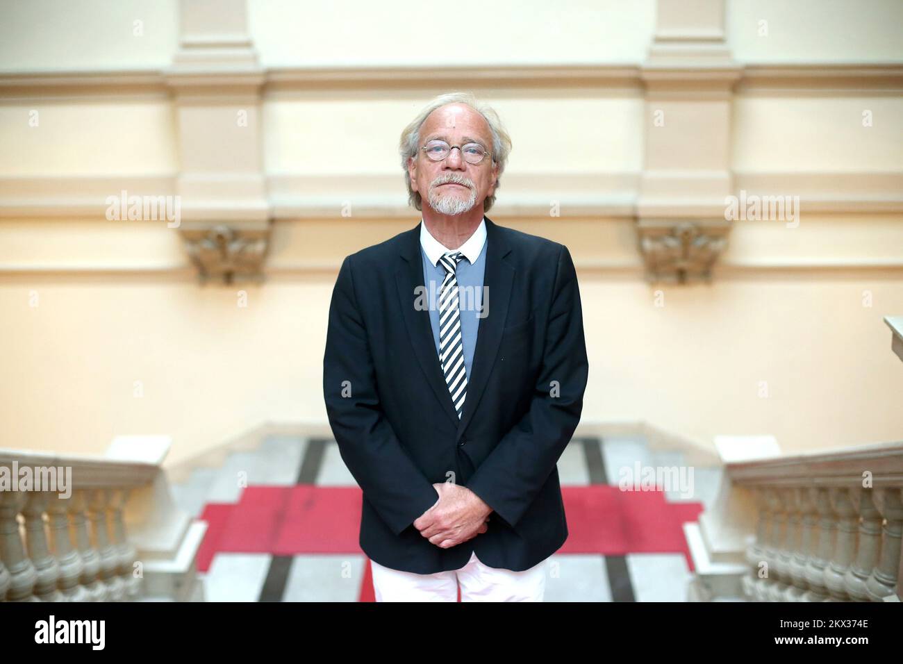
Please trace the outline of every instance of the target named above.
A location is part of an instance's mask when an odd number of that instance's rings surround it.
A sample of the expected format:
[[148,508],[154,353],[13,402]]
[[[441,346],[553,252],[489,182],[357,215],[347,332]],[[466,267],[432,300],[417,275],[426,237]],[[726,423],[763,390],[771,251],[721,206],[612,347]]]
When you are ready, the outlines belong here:
[[903,62],[742,64],[713,67],[704,60],[680,67],[622,64],[481,65],[469,67],[330,67],[173,70],[0,71],[0,98],[43,98],[166,94],[171,86],[263,87],[264,97],[286,90],[433,89],[437,84],[507,89],[641,90],[649,81],[677,85],[724,84],[736,80],[736,92],[898,93],[903,91]]

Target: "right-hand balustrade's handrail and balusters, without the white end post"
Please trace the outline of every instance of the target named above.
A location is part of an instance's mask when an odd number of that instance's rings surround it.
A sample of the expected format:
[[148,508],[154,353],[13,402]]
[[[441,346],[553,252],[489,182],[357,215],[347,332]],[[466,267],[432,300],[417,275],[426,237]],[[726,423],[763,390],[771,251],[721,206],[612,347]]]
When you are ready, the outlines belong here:
[[758,512],[743,593],[760,602],[899,598],[903,443],[728,464]]

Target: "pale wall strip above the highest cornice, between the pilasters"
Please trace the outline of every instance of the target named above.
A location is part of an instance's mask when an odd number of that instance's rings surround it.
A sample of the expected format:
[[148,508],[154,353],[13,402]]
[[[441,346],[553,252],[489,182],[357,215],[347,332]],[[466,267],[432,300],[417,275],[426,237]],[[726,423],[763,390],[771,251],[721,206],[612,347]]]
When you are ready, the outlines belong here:
[[[656,19],[653,0],[463,0],[455,7],[480,20],[477,45],[452,51],[458,64],[639,62]],[[177,0],[3,0],[0,8],[4,70],[166,67],[178,44]],[[267,67],[447,64],[449,51],[436,55],[405,38],[427,24],[426,11],[405,0],[341,8],[328,0],[251,0],[247,17]],[[900,61],[900,23],[898,0],[729,0],[725,9],[731,50],[744,62]]]

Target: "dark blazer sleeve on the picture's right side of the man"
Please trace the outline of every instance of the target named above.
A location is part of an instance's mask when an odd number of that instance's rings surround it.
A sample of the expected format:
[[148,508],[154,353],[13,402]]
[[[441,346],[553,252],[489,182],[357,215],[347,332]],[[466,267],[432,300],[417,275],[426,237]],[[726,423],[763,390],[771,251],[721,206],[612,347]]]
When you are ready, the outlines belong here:
[[470,491],[512,528],[543,488],[570,442],[580,422],[588,376],[577,274],[570,252],[562,246],[544,356],[530,407],[467,483]]

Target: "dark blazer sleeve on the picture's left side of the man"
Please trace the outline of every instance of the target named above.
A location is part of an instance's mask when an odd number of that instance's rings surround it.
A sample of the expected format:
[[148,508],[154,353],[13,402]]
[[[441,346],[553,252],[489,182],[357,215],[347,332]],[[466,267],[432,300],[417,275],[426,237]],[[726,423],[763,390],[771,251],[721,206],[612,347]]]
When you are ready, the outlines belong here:
[[364,497],[396,535],[439,500],[433,483],[405,452],[386,420],[367,330],[355,294],[351,257],[332,291],[323,395],[339,453]]

